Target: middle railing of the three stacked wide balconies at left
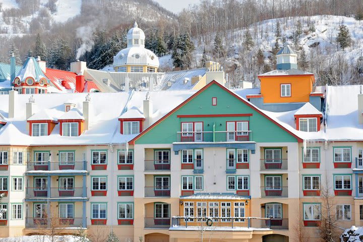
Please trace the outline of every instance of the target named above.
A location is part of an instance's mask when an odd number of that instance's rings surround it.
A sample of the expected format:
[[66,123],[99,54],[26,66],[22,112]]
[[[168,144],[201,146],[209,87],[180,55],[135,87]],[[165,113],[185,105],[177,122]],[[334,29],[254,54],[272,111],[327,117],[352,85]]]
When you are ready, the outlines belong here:
[[[27,198],[48,198],[46,188],[26,188]],[[51,188],[50,198],[81,198],[83,196],[83,188]]]

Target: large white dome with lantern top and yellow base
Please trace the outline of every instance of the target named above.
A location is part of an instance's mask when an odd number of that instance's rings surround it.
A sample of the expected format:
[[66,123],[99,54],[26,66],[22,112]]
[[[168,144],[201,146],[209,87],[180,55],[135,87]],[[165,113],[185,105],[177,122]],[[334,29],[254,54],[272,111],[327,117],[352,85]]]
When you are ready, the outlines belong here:
[[127,48],[113,56],[115,72],[157,72],[159,58],[145,48],[145,34],[135,22],[127,34]]

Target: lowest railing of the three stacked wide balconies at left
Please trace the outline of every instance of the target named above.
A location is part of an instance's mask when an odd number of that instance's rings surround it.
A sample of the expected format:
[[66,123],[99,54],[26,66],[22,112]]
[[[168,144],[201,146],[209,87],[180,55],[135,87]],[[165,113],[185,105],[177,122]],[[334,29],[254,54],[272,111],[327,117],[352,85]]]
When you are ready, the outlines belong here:
[[82,227],[82,218],[25,218],[26,228]]

